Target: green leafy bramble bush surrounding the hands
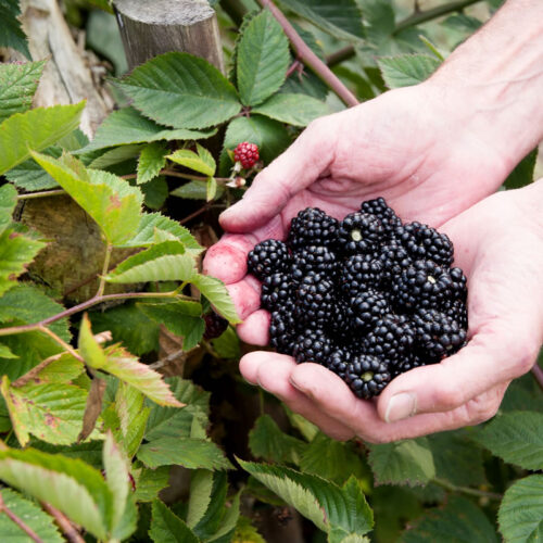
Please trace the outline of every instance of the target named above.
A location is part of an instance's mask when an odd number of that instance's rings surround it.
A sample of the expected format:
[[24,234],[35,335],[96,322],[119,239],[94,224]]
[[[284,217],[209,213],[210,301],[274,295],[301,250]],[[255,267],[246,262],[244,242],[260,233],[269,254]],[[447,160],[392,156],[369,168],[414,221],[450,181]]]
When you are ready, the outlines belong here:
[[[299,522],[314,542],[543,536],[543,402],[530,375],[484,425],[380,445],[334,442],[239,377],[249,348],[225,286],[201,274],[202,251],[255,173],[343,108],[268,10],[214,5],[228,76],[171,52],[112,79],[129,105],[89,141],[78,129],[85,103],[31,108],[47,61],[29,59],[17,1],[2,3],[0,47],[28,56],[0,64],[2,538],[257,543],[265,518]],[[388,0],[280,7],[368,100],[424,80],[498,3],[411,14]],[[242,141],[260,149],[250,169],[233,163]],[[535,155],[505,189],[532,181]],[[29,219],[30,205],[38,215],[39,205],[52,216],[78,210],[86,233],[74,226],[67,238],[98,243],[90,277],[74,279],[70,251],[52,273],[65,248]],[[229,327],[204,339],[212,307]]]

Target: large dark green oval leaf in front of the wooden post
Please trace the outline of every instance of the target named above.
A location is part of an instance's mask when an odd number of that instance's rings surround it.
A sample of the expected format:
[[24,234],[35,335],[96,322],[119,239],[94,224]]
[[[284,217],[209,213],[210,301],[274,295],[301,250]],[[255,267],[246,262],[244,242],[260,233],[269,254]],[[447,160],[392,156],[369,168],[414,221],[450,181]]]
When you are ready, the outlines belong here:
[[174,128],[206,128],[241,110],[236,89],[207,61],[189,53],[155,56],[116,86],[143,115]]

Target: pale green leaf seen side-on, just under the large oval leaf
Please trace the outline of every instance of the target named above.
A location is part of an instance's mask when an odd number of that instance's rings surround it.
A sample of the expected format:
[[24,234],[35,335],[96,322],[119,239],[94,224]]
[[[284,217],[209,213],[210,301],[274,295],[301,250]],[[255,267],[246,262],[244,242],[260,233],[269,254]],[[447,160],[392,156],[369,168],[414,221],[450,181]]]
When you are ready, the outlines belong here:
[[112,112],[98,127],[94,139],[79,152],[87,153],[97,149],[152,141],[195,140],[211,138],[216,129],[188,130],[172,129],[146,118],[134,108]]

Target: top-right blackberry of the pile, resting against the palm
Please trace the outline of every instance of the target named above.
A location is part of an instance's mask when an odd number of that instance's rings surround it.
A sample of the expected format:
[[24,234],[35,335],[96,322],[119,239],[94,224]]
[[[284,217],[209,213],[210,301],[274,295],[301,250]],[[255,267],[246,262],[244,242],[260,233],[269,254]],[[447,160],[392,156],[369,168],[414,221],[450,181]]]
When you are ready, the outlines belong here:
[[445,233],[428,225],[409,223],[399,226],[394,237],[411,254],[413,260],[431,260],[441,266],[453,263],[453,244]]

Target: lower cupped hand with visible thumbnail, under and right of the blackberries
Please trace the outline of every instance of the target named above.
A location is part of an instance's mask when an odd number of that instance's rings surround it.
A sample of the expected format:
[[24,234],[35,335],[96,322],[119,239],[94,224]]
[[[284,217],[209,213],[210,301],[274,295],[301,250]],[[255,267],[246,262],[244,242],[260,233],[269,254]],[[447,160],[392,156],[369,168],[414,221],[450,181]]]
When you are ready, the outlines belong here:
[[376,401],[356,399],[323,366],[270,352],[247,354],[243,377],[339,440],[381,443],[491,418],[543,343],[542,203],[543,179],[443,225],[468,277],[469,342],[457,354],[400,375]]

